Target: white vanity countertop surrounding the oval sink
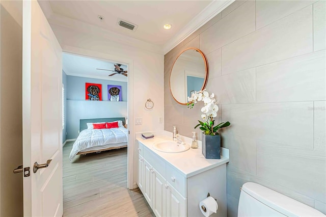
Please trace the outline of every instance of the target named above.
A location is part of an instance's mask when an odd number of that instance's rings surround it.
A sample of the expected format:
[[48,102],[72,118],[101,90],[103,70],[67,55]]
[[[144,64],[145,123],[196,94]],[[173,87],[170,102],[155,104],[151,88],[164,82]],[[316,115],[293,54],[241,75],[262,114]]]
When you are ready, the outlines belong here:
[[[229,162],[229,149],[221,149],[221,159],[206,159],[202,154],[201,141],[197,141],[199,148],[190,148],[180,153],[165,153],[153,148],[153,144],[161,141],[172,141],[172,133],[168,131],[152,132],[155,136],[152,139],[143,139],[141,133],[136,133],[136,139],[156,155],[166,160],[170,165],[178,169],[187,177],[194,176],[214,167]],[[191,138],[182,137],[182,141],[191,145]]]

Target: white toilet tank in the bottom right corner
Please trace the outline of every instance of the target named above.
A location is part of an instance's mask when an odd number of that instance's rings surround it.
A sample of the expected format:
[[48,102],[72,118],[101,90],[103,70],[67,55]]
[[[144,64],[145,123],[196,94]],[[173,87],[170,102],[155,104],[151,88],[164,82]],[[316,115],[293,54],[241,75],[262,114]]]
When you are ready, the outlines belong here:
[[318,210],[260,184],[242,185],[238,216],[326,216]]

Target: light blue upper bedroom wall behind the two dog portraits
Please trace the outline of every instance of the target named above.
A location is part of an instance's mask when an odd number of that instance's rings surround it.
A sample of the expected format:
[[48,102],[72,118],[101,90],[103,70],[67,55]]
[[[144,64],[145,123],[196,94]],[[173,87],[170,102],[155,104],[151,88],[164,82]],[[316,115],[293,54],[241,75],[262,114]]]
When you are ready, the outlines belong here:
[[114,80],[104,80],[88,77],[77,77],[67,75],[67,99],[85,100],[85,84],[95,83],[102,85],[102,100],[107,101],[107,85],[119,85],[122,91],[122,101],[127,99],[127,82],[116,82]]

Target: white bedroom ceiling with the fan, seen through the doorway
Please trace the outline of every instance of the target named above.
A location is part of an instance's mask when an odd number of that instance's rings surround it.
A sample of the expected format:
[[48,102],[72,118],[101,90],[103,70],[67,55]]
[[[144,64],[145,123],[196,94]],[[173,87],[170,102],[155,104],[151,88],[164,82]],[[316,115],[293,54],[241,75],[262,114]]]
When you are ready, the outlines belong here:
[[[62,54],[62,69],[67,75],[128,82],[128,77],[124,75],[115,74],[113,76],[108,76],[114,72],[97,70],[97,68],[114,70],[114,64],[117,63],[71,55],[69,53]],[[121,65],[120,68],[127,70],[127,66],[125,65]]]

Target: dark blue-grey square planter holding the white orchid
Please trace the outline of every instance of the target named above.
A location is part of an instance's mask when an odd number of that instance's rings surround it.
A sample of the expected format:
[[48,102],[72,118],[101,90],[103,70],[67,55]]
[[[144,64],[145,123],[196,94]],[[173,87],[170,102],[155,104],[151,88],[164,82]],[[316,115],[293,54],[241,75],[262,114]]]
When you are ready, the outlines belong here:
[[221,136],[202,133],[202,153],[206,159],[221,159]]

